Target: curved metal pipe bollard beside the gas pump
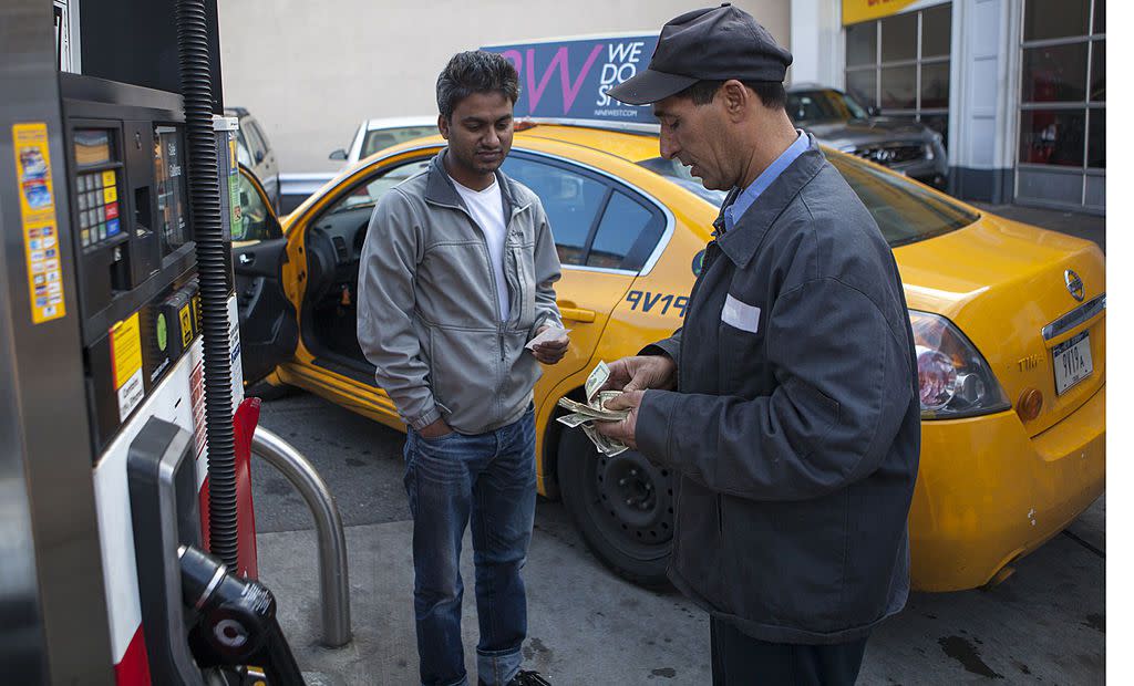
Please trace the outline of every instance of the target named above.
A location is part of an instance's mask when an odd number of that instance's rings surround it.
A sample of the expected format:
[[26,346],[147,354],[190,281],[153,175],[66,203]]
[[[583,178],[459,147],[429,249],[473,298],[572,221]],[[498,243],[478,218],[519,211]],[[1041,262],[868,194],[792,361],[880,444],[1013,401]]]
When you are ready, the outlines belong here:
[[350,642],[350,583],[342,517],[327,482],[298,450],[276,433],[257,426],[252,452],[276,467],[299,491],[315,518],[319,540],[319,591],[322,599],[323,645]]

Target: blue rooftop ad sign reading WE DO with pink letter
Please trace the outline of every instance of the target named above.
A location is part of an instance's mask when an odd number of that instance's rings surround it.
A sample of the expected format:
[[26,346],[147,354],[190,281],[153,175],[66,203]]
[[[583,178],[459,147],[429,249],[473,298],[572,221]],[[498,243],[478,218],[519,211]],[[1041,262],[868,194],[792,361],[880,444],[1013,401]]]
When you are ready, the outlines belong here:
[[657,124],[650,105],[629,105],[607,94],[645,69],[657,33],[485,45],[519,73],[517,118]]

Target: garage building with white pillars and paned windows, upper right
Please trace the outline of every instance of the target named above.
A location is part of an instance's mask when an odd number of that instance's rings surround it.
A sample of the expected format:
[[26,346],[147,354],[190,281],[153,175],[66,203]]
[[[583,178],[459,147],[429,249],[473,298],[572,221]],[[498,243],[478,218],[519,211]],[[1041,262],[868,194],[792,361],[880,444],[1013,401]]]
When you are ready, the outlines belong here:
[[942,134],[955,195],[1106,211],[1106,0],[792,0],[789,78]]

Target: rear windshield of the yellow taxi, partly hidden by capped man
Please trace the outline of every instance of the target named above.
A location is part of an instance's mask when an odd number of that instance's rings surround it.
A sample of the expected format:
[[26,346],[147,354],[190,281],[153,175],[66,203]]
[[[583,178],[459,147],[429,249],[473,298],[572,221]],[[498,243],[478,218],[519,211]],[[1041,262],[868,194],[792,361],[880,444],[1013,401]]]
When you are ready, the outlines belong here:
[[[978,219],[976,213],[904,177],[875,169],[848,155],[832,154],[828,159],[870,210],[890,247],[940,236]],[[653,158],[638,164],[695,193],[714,208],[725,202],[727,194],[723,190],[709,190],[689,173],[688,167],[676,160]]]

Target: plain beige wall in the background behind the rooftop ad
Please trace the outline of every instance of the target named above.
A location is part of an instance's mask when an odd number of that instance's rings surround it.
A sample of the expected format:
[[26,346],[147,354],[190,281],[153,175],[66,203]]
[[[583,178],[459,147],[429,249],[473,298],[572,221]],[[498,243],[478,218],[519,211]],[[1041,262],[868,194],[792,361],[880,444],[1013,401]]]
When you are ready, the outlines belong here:
[[[225,102],[246,107],[284,172],[338,169],[327,159],[370,117],[435,115],[434,84],[462,50],[527,39],[659,31],[712,2],[689,0],[225,0]],[[789,0],[734,5],[788,45]]]

